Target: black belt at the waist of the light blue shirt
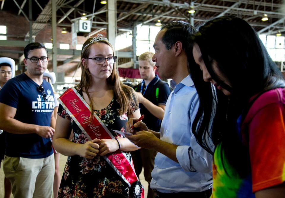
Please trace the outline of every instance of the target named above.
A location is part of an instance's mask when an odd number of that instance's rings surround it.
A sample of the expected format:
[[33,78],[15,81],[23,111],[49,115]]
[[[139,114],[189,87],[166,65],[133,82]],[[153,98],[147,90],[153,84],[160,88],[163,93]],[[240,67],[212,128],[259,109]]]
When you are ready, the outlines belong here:
[[212,194],[212,189],[202,192],[175,192],[175,193],[162,193],[155,191],[156,198],[209,198]]

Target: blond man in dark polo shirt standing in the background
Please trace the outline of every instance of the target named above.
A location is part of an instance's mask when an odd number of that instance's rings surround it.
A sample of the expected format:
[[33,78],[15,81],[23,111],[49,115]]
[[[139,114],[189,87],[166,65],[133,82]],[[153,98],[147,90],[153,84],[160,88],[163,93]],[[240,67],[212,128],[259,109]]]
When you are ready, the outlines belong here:
[[[145,115],[143,122],[151,130],[159,132],[165,104],[171,91],[168,84],[155,74],[156,66],[151,60],[152,57],[152,52],[145,52],[139,56],[140,76],[143,82],[138,84],[135,90],[140,103],[140,113]],[[155,156],[156,151],[154,150],[139,149],[132,152],[137,176],[140,175],[143,167],[145,181],[148,183],[151,182],[151,171],[153,170]],[[155,197],[155,193],[150,186],[148,187],[147,197]]]

